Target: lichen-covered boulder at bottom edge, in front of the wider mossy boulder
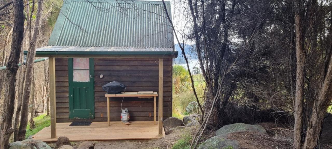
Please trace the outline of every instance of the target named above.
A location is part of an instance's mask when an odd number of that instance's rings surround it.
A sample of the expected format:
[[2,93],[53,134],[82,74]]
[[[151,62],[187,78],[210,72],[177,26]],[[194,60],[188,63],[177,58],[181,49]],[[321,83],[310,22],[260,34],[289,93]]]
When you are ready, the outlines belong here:
[[198,149],[238,149],[238,148],[239,148],[238,141],[227,139],[227,134],[211,137],[198,147]]

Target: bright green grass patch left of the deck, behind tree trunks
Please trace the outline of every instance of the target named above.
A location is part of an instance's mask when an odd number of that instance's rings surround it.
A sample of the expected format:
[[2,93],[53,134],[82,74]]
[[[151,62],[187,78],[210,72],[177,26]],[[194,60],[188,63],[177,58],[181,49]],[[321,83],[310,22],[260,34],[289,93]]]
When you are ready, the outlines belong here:
[[46,114],[40,115],[38,117],[34,118],[35,121],[35,128],[30,130],[30,125],[28,123],[27,126],[27,132],[25,133],[25,137],[28,138],[30,135],[34,135],[40,130],[42,130],[45,127],[48,127],[51,125],[50,117],[46,116]]

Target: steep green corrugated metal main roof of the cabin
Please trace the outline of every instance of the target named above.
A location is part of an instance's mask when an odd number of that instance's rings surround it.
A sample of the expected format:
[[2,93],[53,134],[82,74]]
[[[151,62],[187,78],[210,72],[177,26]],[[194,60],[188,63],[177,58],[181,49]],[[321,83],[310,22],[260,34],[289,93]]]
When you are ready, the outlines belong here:
[[174,49],[168,23],[162,2],[65,0],[48,45]]

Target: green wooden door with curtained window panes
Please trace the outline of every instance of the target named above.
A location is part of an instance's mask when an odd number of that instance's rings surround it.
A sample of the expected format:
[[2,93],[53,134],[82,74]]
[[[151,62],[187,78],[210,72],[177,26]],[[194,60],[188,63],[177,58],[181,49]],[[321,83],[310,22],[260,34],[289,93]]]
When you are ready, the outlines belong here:
[[69,118],[94,119],[93,58],[68,58]]

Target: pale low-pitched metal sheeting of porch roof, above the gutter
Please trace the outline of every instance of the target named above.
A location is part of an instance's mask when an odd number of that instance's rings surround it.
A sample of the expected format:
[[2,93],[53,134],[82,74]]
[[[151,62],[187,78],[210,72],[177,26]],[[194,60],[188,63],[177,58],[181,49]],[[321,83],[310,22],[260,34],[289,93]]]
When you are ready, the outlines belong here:
[[174,52],[173,48],[46,46],[36,51],[66,52]]

